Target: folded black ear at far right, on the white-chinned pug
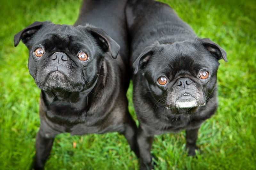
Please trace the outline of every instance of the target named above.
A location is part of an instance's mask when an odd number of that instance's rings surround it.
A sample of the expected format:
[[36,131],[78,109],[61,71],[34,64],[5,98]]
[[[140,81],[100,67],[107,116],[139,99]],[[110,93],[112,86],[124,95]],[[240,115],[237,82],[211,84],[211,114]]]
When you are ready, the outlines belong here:
[[218,44],[214,43],[209,38],[199,39],[199,41],[201,41],[204,47],[213,55],[215,55],[218,60],[222,58],[225,62],[228,62],[226,51],[222,49]]

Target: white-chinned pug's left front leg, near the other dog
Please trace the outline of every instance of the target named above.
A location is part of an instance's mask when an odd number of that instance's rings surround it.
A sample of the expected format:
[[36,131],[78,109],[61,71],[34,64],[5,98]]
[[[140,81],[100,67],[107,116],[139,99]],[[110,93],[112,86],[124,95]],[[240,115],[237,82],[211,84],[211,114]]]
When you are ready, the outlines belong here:
[[140,170],[154,169],[152,156],[150,154],[154,137],[146,135],[146,132],[139,126],[138,144],[140,150]]

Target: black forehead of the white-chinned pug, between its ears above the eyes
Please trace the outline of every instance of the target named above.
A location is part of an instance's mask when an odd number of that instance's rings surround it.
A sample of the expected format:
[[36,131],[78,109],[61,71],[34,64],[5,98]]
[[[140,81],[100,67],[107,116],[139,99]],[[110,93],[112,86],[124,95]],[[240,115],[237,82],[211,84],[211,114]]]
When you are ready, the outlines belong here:
[[178,73],[201,69],[215,70],[218,60],[204,47],[185,41],[159,47],[149,64],[156,66],[153,70],[155,72],[162,70]]

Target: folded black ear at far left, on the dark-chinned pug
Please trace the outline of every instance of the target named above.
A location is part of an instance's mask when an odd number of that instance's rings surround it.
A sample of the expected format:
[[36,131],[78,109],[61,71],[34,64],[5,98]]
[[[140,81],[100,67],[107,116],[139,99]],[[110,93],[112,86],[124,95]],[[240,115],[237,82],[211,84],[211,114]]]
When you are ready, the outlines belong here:
[[21,30],[19,33],[16,33],[14,35],[14,47],[19,44],[20,40],[22,40],[22,42],[26,44],[31,36],[36,33],[42,26],[43,22],[36,21],[30,26],[27,26],[26,28]]

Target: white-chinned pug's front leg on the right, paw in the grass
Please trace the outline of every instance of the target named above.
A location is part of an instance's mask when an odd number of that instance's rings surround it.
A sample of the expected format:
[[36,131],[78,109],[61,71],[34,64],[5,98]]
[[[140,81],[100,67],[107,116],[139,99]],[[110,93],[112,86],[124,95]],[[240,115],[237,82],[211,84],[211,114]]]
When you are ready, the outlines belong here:
[[197,134],[198,134],[199,128],[196,129],[187,129],[186,130],[186,148],[188,149],[188,155],[195,156],[197,150],[196,146],[196,139],[197,139]]

